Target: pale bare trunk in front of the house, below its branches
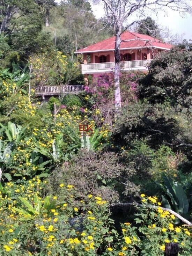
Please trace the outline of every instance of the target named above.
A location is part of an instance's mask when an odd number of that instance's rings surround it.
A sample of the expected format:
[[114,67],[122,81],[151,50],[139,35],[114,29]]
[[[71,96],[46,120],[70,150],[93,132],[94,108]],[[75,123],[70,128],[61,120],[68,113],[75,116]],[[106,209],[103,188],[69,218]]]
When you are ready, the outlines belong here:
[[120,74],[120,30],[116,30],[115,38],[115,71],[114,71],[114,86],[115,86],[115,108],[116,111],[121,107],[121,94],[120,94],[120,85],[119,85],[119,74]]

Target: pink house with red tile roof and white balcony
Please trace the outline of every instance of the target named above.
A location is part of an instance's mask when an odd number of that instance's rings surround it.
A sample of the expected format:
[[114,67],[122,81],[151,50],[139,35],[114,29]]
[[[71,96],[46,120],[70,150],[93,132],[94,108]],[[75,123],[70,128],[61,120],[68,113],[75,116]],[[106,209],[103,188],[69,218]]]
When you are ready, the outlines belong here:
[[[130,31],[122,33],[121,40],[120,68],[124,71],[140,70],[146,72],[147,65],[156,54],[161,51],[169,51],[172,47],[171,44],[164,43],[157,38]],[[85,81],[89,74],[98,76],[114,70],[114,50],[115,36],[75,52],[83,54],[82,74],[85,76]],[[87,58],[87,56],[90,57]]]

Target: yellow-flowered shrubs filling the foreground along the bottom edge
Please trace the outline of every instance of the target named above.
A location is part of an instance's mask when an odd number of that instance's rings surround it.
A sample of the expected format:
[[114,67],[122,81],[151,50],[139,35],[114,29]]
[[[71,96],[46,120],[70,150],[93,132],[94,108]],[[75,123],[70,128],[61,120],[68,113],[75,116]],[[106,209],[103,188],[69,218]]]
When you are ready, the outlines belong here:
[[[45,185],[37,176],[19,186],[1,186],[0,255],[163,255],[168,242],[178,242],[182,255],[191,255],[189,229],[175,226],[160,206],[143,203],[136,225],[121,224],[120,234],[100,195],[80,199],[71,184],[61,183],[60,200],[60,194],[43,196]],[[154,197],[143,198],[157,205]]]

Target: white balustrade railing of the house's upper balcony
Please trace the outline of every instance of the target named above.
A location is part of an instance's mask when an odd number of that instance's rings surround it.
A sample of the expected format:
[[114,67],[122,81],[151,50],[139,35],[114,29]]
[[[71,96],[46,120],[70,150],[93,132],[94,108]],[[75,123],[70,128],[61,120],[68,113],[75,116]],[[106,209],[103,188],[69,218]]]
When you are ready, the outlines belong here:
[[[120,69],[123,71],[128,71],[128,70],[145,71],[147,70],[147,65],[150,63],[150,61],[151,59],[121,61]],[[82,74],[111,72],[114,70],[114,68],[115,68],[115,62],[81,64]]]

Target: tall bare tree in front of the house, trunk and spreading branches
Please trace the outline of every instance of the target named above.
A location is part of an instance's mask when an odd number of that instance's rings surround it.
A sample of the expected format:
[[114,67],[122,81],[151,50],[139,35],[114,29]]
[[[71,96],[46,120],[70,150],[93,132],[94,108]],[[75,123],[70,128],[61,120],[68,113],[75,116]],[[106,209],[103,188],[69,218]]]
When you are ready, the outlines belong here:
[[159,12],[166,10],[175,10],[178,12],[192,13],[191,3],[187,0],[95,0],[95,3],[104,3],[104,10],[108,23],[111,24],[115,30],[115,71],[114,71],[114,85],[115,85],[115,104],[116,110],[121,107],[121,95],[119,87],[120,74],[120,44],[122,42],[120,36],[123,32],[123,24],[125,22],[130,24],[133,19],[133,14],[146,15],[149,11]]

